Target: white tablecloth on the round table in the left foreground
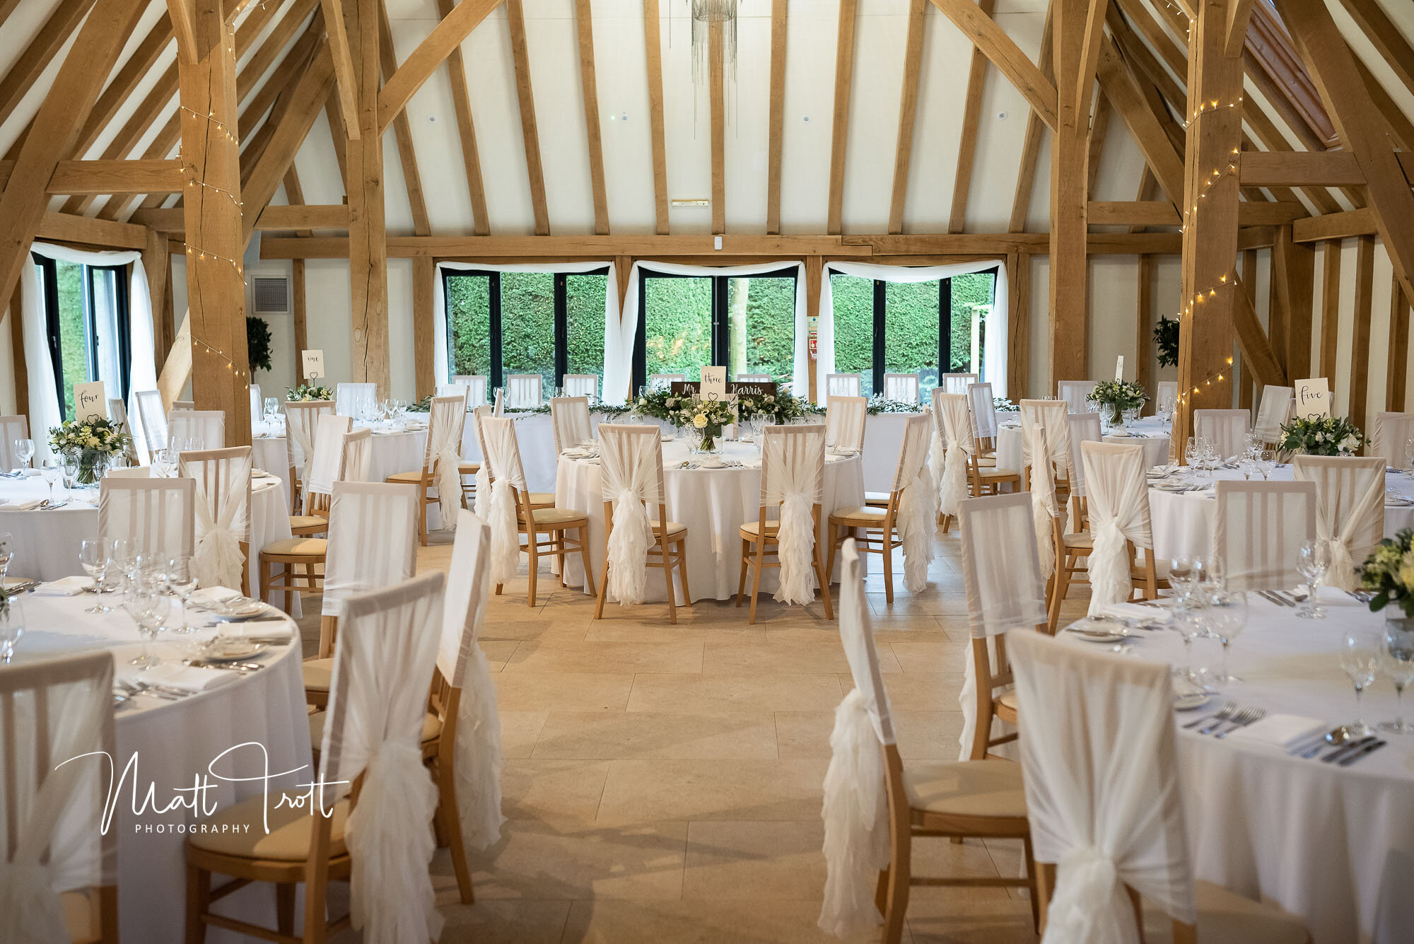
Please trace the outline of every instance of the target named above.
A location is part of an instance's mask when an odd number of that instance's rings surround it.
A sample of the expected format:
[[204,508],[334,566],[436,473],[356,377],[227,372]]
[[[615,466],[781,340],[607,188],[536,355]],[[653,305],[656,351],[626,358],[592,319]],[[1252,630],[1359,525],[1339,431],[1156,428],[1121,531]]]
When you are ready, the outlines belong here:
[[[52,514],[59,516],[61,512]],[[137,629],[123,612],[85,613],[83,608],[93,602],[93,596],[88,594],[68,598],[27,594],[20,599],[25,610],[25,633],[16,649],[16,663],[112,649],[117,675],[140,677],[127,666],[140,646]],[[197,616],[195,610],[192,616]],[[294,633],[294,623],[288,619],[247,626],[257,635],[276,633],[281,627]],[[209,639],[211,635],[211,630],[191,636],[164,633],[158,636],[153,651],[164,661],[180,661],[189,640]],[[110,827],[117,831],[117,913],[124,941],[177,944],[182,940],[187,900],[187,858],[182,848],[185,834],[175,828],[205,818],[181,807],[170,813],[148,810],[134,815],[134,794],[136,803],[141,804],[151,783],[160,807],[181,796],[173,793],[178,789],[187,789],[189,800],[194,779],[205,776],[205,781],[212,784],[205,793],[208,807],[225,808],[257,796],[263,789],[260,780],[229,783],[206,773],[208,765],[218,755],[236,745],[250,746],[223,759],[215,766],[216,773],[226,777],[263,777],[266,772],[286,774],[271,780],[271,793],[294,789],[311,779],[300,646],[267,650],[255,657],[255,661],[264,663],[269,668],[180,701],[139,695],[117,708],[117,756],[113,759],[117,772],[122,773],[129,759],[137,756],[134,773],[115,796],[117,813]],[[98,830],[98,824],[93,828]],[[274,896],[269,885],[242,889],[218,903],[216,910],[274,927]],[[206,940],[216,944],[245,938],[211,928]]]

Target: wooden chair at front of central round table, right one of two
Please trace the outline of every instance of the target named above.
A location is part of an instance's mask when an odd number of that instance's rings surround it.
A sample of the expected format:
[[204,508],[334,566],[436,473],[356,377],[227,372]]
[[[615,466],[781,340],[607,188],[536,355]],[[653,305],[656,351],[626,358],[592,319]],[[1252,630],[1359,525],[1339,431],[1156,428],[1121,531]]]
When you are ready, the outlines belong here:
[[[824,601],[824,618],[834,619],[830,603],[830,575],[820,554],[820,500],[824,492],[824,427],[766,427],[761,442],[761,502],[756,520],[741,526],[741,577],[737,581],[737,606],[747,589],[751,571],[751,615],[756,622],[756,598],[761,595],[761,574],[766,568],[781,568],[781,509],[795,493],[810,502],[810,560],[814,578]],[[776,520],[768,520],[773,514]],[[775,548],[775,550],[772,550]]]

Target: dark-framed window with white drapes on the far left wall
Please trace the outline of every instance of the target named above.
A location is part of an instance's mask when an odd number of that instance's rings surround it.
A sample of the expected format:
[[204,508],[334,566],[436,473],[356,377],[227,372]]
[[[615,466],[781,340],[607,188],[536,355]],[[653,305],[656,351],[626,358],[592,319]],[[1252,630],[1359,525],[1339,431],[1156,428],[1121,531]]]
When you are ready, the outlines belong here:
[[74,417],[74,384],[103,380],[127,399],[132,336],[127,266],[83,266],[31,254],[44,297],[54,386],[64,418]]

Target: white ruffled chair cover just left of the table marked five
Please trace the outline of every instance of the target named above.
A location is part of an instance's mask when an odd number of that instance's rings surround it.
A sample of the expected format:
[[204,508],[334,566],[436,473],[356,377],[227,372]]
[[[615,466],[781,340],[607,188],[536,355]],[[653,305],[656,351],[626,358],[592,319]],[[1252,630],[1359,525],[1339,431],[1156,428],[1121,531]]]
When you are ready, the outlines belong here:
[[1152,548],[1148,485],[1144,480],[1144,447],[1117,442],[1082,442],[1086,490],[1089,492],[1090,610],[1097,615],[1110,603],[1130,598],[1130,551]]

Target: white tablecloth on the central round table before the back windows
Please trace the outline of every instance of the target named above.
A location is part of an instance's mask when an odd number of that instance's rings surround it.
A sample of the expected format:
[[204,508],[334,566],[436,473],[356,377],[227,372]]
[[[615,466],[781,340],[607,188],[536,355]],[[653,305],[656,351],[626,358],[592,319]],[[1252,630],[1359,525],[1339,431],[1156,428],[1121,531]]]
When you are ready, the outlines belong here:
[[[693,599],[730,599],[737,592],[741,575],[741,534],[738,529],[755,521],[761,507],[759,456],[752,445],[727,442],[723,455],[756,465],[756,468],[680,469],[687,458],[687,444],[663,444],[663,486],[667,490],[667,514],[687,527],[687,582]],[[820,548],[829,558],[824,529],[837,507],[864,503],[863,465],[858,456],[830,458],[824,465],[824,497],[820,507]],[[556,505],[585,512],[590,516],[590,561],[594,579],[604,574],[604,496],[601,469],[584,459],[561,459],[554,489]],[[655,577],[658,579],[655,579]],[[584,586],[584,568],[575,554],[566,567],[570,586]],[[768,570],[761,581],[773,592],[775,570]],[[598,586],[584,586],[587,594]],[[658,571],[649,571],[649,599],[666,601],[667,589]],[[677,586],[674,594],[682,594]],[[679,596],[679,599],[682,599]]]

